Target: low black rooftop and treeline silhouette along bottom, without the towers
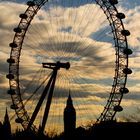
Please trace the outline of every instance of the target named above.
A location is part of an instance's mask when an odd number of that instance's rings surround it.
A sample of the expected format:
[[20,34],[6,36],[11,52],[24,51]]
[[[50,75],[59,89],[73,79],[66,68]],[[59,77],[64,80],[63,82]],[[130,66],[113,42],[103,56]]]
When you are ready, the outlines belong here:
[[[10,137],[3,137],[0,133],[0,140],[139,140],[139,123],[117,123],[102,122],[85,129],[78,127],[70,137],[65,137],[64,133],[53,137],[27,133],[24,130],[17,130]],[[5,133],[6,135],[6,133]]]

